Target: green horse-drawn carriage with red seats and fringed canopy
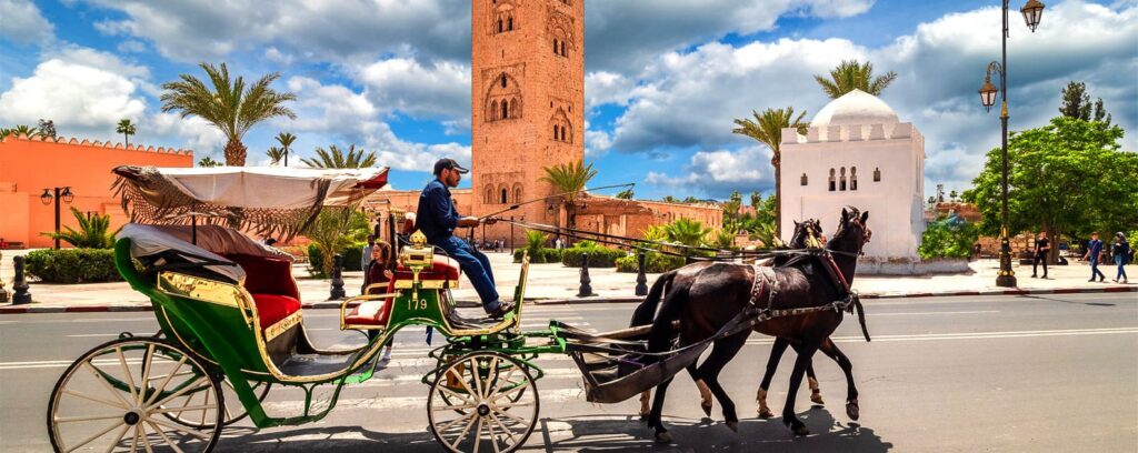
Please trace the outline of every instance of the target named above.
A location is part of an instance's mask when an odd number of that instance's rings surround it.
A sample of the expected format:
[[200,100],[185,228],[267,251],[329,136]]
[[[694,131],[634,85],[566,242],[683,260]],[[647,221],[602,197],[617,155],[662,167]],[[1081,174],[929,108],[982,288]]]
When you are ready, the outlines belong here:
[[[124,208],[147,223],[123,228],[115,263],[150,298],[159,331],[124,332],[67,368],[47,414],[58,452],[206,452],[244,418],[257,428],[318,421],[345,386],[372,377],[381,348],[409,326],[429,326],[446,338],[422,377],[439,445],[509,452],[538,420],[543,372],[533,361],[539,354],[572,355],[588,400],[611,403],[670,379],[711,341],[750,328],[740,318],[703,341],[654,352],[644,341],[651,326],[591,333],[551,321],[545,330],[522,331],[527,257],[511,312],[501,320],[465,318],[451,294],[457,265],[415,233],[409,244],[393,244],[398,260],[389,282],[340,306],[340,328],[366,333],[366,343],[321,348],[306,335],[290,257],[241,231],[304,231],[322,211],[351,208],[382,187],[386,168],[115,172]],[[331,388],[323,407],[313,398],[320,386]],[[262,403],[279,387],[303,389],[299,413],[266,413]]]

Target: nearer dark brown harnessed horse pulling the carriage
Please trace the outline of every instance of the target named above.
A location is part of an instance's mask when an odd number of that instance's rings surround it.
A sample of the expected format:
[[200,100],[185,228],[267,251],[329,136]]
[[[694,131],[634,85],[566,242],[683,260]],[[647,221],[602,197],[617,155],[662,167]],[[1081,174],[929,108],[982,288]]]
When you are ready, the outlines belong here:
[[[827,248],[834,255],[838,272],[847,280],[853,275],[857,266],[857,255],[869,241],[871,231],[865,226],[868,213],[858,214],[857,209],[842,209],[841,222]],[[769,307],[774,311],[810,308],[827,306],[846,297],[846,288],[834,285],[824,263],[818,260],[800,261],[795,264],[775,267],[772,271],[769,288],[754,302],[758,307]],[[756,279],[756,267],[729,263],[696,263],[661,275],[653,289],[669,287],[663,305],[652,320],[649,339],[649,351],[662,352],[673,346],[673,321],[679,320],[679,343],[682,345],[699,343],[712,337],[719,329],[731,322],[739,313],[749,308],[752,285]],[[634,315],[634,324],[643,324],[645,316],[651,319],[659,304],[661,291],[653,290],[641,304]],[[652,297],[652,296],[655,297]],[[814,353],[833,333],[842,321],[843,314],[834,310],[813,311],[806,314],[772,318],[754,326],[754,330],[773,337],[786,338],[798,344],[798,359],[791,373],[786,405],[783,409],[783,422],[797,435],[809,434],[806,426],[794,415],[794,400],[802,374]],[[638,318],[638,319],[637,319]],[[864,328],[864,324],[863,324]],[[711,394],[719,401],[724,418],[729,428],[736,429],[739,417],[735,404],[719,384],[719,372],[733,359],[747,341],[750,330],[720,338],[712,344],[711,353],[696,369],[698,379],[707,384]],[[670,379],[657,387],[649,426],[655,428],[658,442],[670,442],[661,418],[663,401]]]

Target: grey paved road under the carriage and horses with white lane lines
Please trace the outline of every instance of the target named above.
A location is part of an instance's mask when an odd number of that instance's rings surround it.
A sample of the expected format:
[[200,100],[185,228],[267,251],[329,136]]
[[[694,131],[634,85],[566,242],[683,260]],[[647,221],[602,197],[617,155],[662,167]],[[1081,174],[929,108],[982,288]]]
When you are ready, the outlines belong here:
[[[556,305],[527,311],[527,328],[558,319],[584,328],[624,327],[633,305]],[[635,418],[637,404],[594,405],[580,394],[571,361],[539,364],[542,415],[530,451],[795,451],[975,452],[1138,451],[1138,296],[1135,294],[992,296],[869,300],[874,341],[856,322],[835,335],[855,363],[861,420],[842,405],[844,382],[818,362],[827,406],[805,398],[799,417],[815,433],[792,438],[780,419],[753,418],[759,369],[769,339],[752,337],[724,371],[724,385],[744,420],[729,431],[716,410],[702,417],[694,387],[682,376],[669,393],[666,420],[676,444],[658,447]],[[332,311],[306,313],[318,344],[352,344]],[[67,363],[119,331],[152,332],[145,313],[0,316],[0,451],[48,451],[44,411]],[[397,338],[388,370],[341,395],[332,414],[314,425],[225,431],[218,451],[439,451],[426,431],[427,351],[418,329]],[[770,403],[781,407],[790,355]],[[825,359],[822,359],[826,361]],[[826,361],[828,362],[828,361]],[[805,395],[805,392],[803,392]],[[299,393],[270,395],[270,411],[295,409]]]

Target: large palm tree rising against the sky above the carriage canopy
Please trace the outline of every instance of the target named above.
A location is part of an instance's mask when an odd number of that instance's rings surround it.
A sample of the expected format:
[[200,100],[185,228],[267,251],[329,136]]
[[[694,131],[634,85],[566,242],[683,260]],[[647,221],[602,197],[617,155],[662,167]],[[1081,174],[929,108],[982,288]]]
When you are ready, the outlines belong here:
[[192,75],[182,74],[180,81],[162,84],[166,90],[162,94],[162,112],[181,110],[183,118],[196,115],[217,126],[228,139],[225,165],[245,165],[247,149],[241,138],[257,123],[277,116],[296,118],[296,114],[283,105],[296,100],[296,94],[269,88],[280,79],[280,73],[263,76],[247,88],[244,77],[229,77],[224,63],[220,68],[206,63],[199,66],[213,89]]

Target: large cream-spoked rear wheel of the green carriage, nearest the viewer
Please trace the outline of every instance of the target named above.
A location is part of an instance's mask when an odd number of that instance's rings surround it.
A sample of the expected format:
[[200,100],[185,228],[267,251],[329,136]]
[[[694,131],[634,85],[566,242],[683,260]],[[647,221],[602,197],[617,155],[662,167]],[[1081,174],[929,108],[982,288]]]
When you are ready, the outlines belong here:
[[[178,346],[116,339],[59,377],[48,403],[48,435],[56,452],[208,452],[224,421],[221,392],[217,378]],[[171,422],[170,412],[205,421],[188,427]]]

